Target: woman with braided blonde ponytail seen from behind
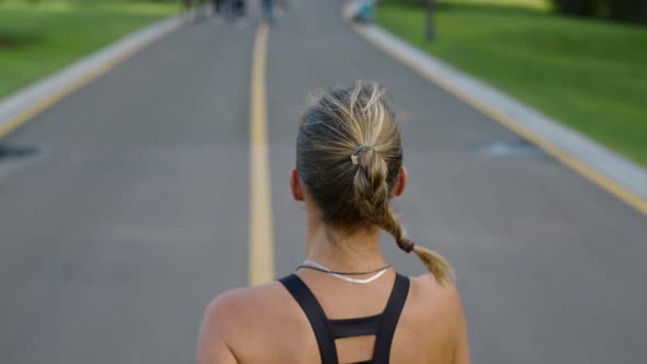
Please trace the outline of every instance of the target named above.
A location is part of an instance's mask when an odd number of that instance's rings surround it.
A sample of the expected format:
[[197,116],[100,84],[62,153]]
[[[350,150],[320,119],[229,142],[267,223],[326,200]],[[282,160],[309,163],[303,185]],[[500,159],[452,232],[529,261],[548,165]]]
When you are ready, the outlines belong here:
[[[300,122],[291,175],[306,206],[307,260],[279,282],[217,297],[198,363],[469,363],[450,265],[408,240],[390,211],[406,184],[384,90],[359,82],[319,95]],[[397,274],[379,251],[382,229],[430,273]]]

